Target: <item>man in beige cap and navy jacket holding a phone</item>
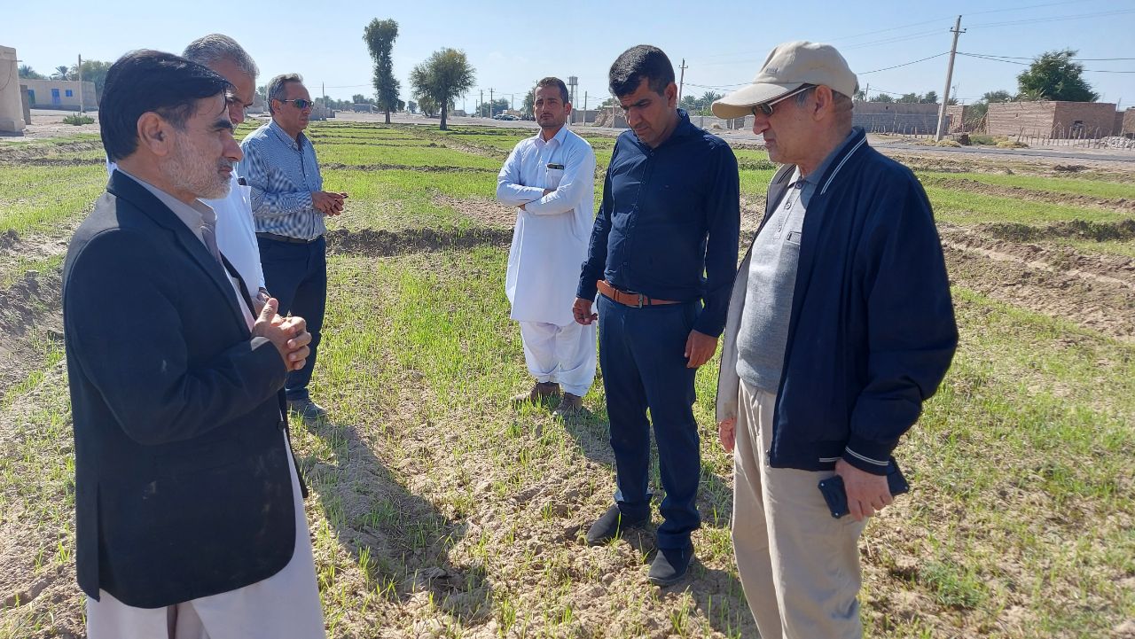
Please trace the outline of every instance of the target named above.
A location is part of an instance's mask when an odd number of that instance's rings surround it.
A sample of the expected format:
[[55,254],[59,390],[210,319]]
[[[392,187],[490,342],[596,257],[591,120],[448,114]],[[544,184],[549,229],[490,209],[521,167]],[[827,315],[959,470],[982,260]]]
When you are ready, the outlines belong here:
[[[861,636],[858,538],[958,340],[930,202],[852,128],[857,89],[834,48],[790,42],[713,104],[751,113],[784,165],[733,284],[717,387],[737,564],[766,638]],[[851,516],[818,488],[836,476]]]

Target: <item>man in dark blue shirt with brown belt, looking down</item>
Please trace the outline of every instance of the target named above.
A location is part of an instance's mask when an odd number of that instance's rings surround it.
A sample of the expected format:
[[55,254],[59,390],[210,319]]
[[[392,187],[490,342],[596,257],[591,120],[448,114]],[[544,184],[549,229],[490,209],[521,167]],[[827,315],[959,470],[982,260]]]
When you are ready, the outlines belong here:
[[650,519],[649,409],[666,491],[650,581],[670,586],[689,569],[690,533],[701,523],[693,378],[725,326],[740,233],[737,158],[676,108],[674,67],[661,49],[628,49],[609,83],[631,131],[607,168],[573,313],[603,326],[617,490],[587,540],[604,544]]

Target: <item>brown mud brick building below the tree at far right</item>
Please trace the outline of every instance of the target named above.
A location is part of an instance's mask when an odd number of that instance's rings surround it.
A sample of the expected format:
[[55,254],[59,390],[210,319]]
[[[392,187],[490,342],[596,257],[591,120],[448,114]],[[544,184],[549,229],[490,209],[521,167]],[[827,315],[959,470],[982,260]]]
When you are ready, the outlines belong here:
[[995,102],[986,116],[990,135],[1096,138],[1112,134],[1116,106],[1110,102]]

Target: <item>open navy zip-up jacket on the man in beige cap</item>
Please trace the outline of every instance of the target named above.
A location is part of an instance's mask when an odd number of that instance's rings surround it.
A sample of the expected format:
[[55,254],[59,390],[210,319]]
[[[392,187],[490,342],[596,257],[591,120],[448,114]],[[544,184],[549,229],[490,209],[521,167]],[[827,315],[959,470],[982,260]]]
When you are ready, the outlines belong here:
[[[765,220],[793,168],[773,177]],[[737,330],[749,259],[730,300],[718,422],[738,411]],[[842,457],[884,474],[899,437],[945,376],[958,329],[926,192],[910,169],[868,146],[861,128],[808,202],[791,313],[772,447],[764,451],[770,465],[831,470]]]

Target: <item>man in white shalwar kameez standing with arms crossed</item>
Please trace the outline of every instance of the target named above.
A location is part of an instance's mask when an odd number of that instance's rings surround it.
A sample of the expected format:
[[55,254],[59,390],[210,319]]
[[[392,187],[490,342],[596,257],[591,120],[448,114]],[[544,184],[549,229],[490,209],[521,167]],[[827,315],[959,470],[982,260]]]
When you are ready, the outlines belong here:
[[557,417],[582,409],[596,361],[595,325],[571,312],[594,224],[595,152],[564,126],[570,113],[563,81],[541,79],[533,100],[540,133],[516,144],[497,177],[497,200],[516,207],[505,293],[536,378],[513,401],[543,402],[562,387]]

